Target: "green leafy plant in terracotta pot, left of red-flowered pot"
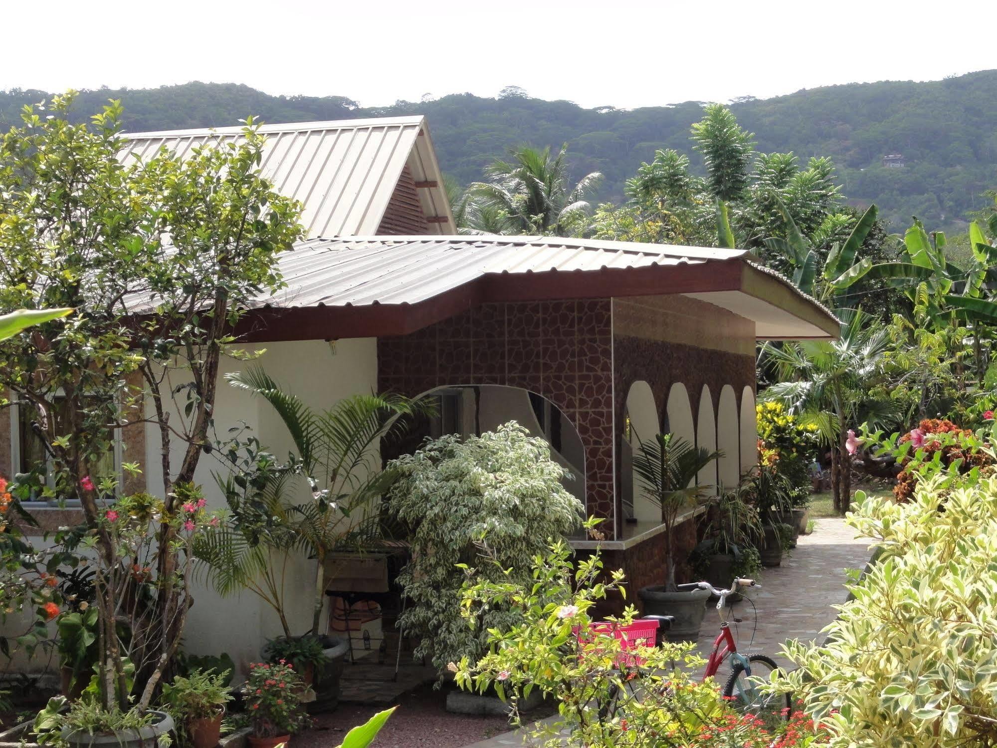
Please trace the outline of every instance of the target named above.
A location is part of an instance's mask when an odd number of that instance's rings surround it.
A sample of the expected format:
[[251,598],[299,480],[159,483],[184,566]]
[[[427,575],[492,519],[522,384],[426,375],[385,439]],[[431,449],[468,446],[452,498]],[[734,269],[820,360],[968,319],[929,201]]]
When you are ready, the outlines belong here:
[[163,686],[166,710],[181,720],[194,748],[213,748],[221,735],[221,719],[228,693],[230,673],[193,670],[187,676],[177,675]]

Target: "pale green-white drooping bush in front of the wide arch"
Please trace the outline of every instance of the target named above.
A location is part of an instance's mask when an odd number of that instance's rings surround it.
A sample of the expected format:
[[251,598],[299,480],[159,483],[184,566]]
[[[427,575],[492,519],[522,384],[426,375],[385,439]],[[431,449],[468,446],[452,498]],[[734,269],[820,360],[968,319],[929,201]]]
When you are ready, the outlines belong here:
[[[390,511],[408,529],[412,561],[399,581],[407,598],[400,627],[421,637],[416,656],[443,671],[448,662],[477,657],[491,627],[514,625],[507,606],[482,611],[477,630],[461,616],[458,563],[481,566],[486,578],[510,569],[529,577],[529,562],[554,539],[580,527],[581,503],[564,490],[567,473],[550,459],[550,445],[514,422],[463,439],[444,436],[414,455],[393,460],[399,480]],[[487,553],[498,561],[482,563]]]

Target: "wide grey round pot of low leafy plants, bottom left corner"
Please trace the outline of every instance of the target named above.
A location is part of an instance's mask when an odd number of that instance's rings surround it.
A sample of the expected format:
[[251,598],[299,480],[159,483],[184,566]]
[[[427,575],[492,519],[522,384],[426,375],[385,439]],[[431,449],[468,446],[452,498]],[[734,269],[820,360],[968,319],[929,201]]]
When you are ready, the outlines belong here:
[[173,726],[172,717],[164,711],[138,706],[122,710],[117,705],[108,709],[94,697],[70,703],[65,696],[56,696],[35,717],[33,730],[42,744],[147,748],[168,739]]

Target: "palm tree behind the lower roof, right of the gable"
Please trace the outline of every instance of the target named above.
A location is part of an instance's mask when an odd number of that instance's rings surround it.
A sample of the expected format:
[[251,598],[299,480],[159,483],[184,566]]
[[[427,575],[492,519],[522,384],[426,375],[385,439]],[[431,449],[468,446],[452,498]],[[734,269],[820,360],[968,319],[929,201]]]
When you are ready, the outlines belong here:
[[501,216],[501,233],[569,233],[575,221],[591,207],[588,196],[602,181],[598,172],[582,177],[568,187],[567,144],[556,156],[550,148],[542,151],[522,147],[509,161],[497,160],[485,173],[488,182],[468,187],[477,209],[492,219]]

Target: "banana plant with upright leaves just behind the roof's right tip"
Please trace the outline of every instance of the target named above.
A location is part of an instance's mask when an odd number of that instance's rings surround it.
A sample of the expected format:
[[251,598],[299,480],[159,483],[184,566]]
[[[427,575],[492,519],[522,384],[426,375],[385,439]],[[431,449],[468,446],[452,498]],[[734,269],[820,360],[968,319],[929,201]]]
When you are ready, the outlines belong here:
[[835,242],[831,246],[828,259],[821,268],[820,277],[824,283],[818,282],[819,255],[814,243],[804,236],[781,200],[779,209],[786,221],[786,238],[769,238],[765,240],[765,245],[770,251],[787,258],[793,267],[793,282],[801,291],[821,300],[831,300],[833,297],[844,295],[848,286],[868,272],[871,262],[868,259],[856,262],[855,256],[875,224],[877,214],[875,205],[869,205],[862,213],[844,243]]

